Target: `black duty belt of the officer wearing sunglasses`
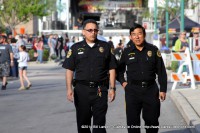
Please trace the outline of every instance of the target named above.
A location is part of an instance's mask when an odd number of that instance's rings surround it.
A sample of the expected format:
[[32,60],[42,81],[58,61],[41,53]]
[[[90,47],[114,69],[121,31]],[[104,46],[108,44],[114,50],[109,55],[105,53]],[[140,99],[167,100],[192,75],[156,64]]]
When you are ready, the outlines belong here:
[[108,85],[108,81],[100,81],[100,82],[94,82],[94,81],[85,81],[85,80],[75,80],[76,83],[83,84],[86,86],[89,86],[90,88],[94,88],[97,86],[106,86]]

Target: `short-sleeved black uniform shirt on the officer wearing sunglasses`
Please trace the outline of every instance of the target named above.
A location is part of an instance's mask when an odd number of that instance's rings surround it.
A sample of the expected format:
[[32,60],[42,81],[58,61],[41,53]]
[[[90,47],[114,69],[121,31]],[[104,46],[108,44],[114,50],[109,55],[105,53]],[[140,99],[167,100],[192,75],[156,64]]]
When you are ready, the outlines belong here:
[[91,48],[83,40],[71,47],[63,67],[75,71],[76,80],[98,82],[108,78],[109,70],[117,65],[107,42],[97,40]]

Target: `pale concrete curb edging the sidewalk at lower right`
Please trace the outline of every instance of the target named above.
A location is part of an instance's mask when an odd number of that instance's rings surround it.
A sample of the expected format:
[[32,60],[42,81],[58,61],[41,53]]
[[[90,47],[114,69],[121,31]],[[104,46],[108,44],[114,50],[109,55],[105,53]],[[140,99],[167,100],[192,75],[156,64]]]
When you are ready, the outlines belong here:
[[[189,91],[181,90],[181,91]],[[180,90],[171,91],[171,99],[177,106],[179,112],[185,119],[188,127],[193,126],[190,128],[192,133],[200,133],[200,118],[198,114],[195,112],[191,104],[188,102],[187,98],[181,93]]]

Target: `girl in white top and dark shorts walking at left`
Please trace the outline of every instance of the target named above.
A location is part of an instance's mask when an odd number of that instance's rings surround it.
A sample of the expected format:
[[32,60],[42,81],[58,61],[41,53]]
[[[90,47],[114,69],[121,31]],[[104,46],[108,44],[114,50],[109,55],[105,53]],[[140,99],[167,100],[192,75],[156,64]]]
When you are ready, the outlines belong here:
[[[27,77],[27,67],[28,67],[28,61],[29,61],[29,55],[26,52],[26,46],[21,45],[19,47],[19,77],[20,77],[20,84],[21,87],[19,88],[19,90],[26,90],[29,89],[31,87],[31,82],[29,81],[28,77]],[[24,87],[24,79],[27,82],[27,87]]]

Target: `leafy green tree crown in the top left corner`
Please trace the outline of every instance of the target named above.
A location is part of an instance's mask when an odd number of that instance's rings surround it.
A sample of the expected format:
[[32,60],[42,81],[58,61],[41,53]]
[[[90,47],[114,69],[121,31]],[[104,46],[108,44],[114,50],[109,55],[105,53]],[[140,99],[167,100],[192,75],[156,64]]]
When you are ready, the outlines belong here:
[[56,0],[2,0],[0,4],[0,21],[12,32],[15,27],[33,19],[43,17],[56,10]]

